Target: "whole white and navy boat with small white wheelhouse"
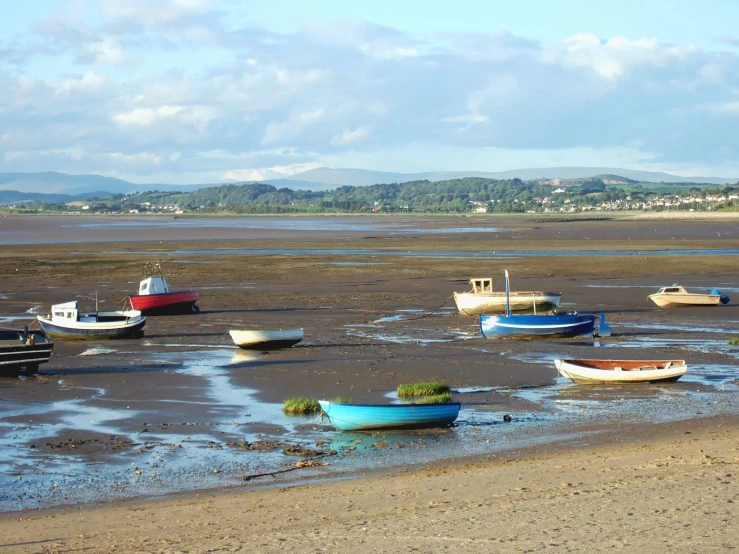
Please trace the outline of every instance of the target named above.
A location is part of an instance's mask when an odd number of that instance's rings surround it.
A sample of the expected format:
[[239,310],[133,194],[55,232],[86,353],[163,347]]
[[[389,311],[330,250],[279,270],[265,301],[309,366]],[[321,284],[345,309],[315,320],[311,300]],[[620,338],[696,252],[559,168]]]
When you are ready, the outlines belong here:
[[50,316],[36,319],[52,337],[82,340],[139,338],[146,324],[137,310],[83,313],[77,309],[77,301],[56,304]]

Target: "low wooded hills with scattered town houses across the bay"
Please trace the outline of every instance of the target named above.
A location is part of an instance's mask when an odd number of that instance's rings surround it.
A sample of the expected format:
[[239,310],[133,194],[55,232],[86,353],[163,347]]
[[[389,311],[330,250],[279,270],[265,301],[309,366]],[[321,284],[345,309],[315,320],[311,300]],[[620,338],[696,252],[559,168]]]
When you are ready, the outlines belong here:
[[589,179],[411,181],[341,186],[327,191],[229,184],[192,192],[98,194],[65,201],[35,195],[6,202],[23,213],[285,214],[285,213],[578,213],[737,211],[739,183],[643,183],[613,175]]

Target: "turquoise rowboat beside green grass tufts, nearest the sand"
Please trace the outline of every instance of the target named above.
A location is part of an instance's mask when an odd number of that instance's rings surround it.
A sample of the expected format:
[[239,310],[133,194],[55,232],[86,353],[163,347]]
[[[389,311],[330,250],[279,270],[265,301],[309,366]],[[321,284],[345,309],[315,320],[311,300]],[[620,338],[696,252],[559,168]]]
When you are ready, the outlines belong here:
[[459,416],[459,402],[444,404],[338,404],[319,400],[331,425],[342,431],[446,427]]

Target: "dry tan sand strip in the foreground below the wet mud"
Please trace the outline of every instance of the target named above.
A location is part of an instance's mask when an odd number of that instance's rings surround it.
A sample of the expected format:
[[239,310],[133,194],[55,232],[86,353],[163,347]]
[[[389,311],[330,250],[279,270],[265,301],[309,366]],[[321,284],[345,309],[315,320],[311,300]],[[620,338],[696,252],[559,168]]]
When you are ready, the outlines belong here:
[[724,552],[739,425],[326,484],[16,514],[7,552]]

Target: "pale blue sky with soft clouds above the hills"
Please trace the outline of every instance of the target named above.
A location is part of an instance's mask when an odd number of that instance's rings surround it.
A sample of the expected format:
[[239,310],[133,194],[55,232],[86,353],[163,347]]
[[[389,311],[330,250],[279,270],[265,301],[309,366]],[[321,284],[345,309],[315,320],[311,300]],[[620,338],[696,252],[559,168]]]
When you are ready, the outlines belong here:
[[739,180],[739,2],[0,0],[0,172]]

